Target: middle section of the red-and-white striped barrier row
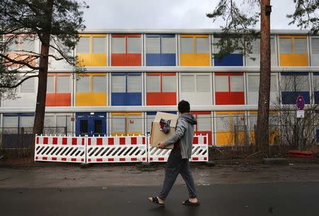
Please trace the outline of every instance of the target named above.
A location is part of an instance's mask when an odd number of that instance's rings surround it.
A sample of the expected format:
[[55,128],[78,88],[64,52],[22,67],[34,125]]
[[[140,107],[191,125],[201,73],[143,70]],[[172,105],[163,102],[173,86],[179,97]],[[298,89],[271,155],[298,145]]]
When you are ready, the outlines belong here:
[[146,136],[89,137],[87,163],[146,162]]

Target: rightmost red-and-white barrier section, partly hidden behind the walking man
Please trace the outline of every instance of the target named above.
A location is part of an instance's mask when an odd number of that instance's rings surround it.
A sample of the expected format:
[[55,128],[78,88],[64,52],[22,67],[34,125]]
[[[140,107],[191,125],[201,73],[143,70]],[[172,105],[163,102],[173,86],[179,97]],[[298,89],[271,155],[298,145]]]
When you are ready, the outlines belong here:
[[[150,139],[150,137],[148,137]],[[169,154],[172,150],[161,149],[150,146],[150,140],[148,140],[148,162],[167,162]],[[208,135],[206,136],[194,136],[193,149],[191,150],[192,162],[206,162],[208,161]]]

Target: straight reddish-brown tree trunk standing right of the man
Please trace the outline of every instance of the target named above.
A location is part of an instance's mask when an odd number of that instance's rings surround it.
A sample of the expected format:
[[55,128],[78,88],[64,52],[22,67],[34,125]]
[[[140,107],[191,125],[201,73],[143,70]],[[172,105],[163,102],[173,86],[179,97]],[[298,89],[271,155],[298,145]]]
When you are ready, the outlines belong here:
[[260,22],[260,79],[257,114],[256,145],[259,150],[269,146],[269,98],[270,98],[270,11],[267,13],[270,0],[262,0]]

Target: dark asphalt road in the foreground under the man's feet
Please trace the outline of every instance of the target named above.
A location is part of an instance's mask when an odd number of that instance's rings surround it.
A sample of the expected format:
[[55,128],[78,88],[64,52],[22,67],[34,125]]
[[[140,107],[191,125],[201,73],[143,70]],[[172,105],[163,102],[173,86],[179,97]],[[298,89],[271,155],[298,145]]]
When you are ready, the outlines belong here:
[[[121,180],[120,180],[121,181]],[[174,186],[164,208],[147,201],[159,186],[1,188],[0,215],[318,215],[319,182],[197,186],[199,207]]]

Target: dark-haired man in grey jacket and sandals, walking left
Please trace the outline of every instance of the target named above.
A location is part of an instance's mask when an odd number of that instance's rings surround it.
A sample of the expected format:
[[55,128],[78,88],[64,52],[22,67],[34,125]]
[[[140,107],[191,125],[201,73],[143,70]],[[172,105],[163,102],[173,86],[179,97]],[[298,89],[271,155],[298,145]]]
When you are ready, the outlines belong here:
[[189,191],[189,198],[182,202],[184,205],[199,205],[197,200],[194,179],[189,169],[189,159],[191,159],[191,149],[193,145],[194,125],[197,124],[194,116],[189,114],[189,102],[181,100],[178,105],[180,116],[177,119],[177,126],[174,135],[159,143],[159,148],[165,148],[174,145],[171,154],[167,160],[165,169],[165,179],[162,191],[158,196],[148,198],[150,202],[164,206],[164,200],[167,198],[177,176],[181,174],[186,182]]

